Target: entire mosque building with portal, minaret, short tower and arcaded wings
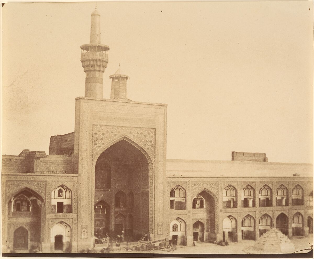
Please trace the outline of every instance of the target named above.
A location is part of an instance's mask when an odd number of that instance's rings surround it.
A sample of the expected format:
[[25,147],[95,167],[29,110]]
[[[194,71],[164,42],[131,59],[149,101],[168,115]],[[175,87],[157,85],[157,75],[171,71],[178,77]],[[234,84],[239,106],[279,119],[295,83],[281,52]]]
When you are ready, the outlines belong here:
[[52,136],[49,155],[2,156],[3,252],[75,253],[107,233],[192,245],[256,240],[272,227],[313,232],[312,164],[246,152],[167,160],[167,105],[129,100],[120,68],[103,98],[109,47],[97,10],[81,50],[85,96],[75,100],[74,132]]

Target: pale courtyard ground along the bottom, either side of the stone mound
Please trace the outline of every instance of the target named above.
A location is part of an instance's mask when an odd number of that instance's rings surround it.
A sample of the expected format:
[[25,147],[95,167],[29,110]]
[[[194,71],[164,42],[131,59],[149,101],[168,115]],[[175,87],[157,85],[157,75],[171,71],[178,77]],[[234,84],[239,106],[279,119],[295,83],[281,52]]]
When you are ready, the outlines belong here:
[[[313,244],[313,234],[302,238],[292,238],[292,243],[295,245],[295,251],[310,248]],[[136,253],[162,253],[162,254],[245,254],[243,249],[254,245],[253,240],[241,240],[237,243],[230,243],[226,246],[215,245],[211,243],[198,243],[196,246],[177,246],[177,250],[169,252],[168,250],[155,250],[155,251],[136,251]],[[307,253],[307,251],[301,251],[299,253]],[[115,251],[114,253],[135,253],[126,252],[125,249]]]

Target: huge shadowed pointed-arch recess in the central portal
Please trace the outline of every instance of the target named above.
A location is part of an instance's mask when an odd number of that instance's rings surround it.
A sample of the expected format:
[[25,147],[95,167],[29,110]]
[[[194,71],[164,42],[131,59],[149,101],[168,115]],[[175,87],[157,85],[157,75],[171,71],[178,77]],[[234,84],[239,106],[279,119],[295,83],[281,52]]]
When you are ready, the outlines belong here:
[[[104,196],[114,205],[109,220],[114,224],[110,224],[110,231],[121,234],[122,229],[128,229],[124,215],[132,213],[136,218],[133,221],[134,238],[148,234],[149,174],[153,173],[150,172],[149,156],[133,141],[124,138],[103,151],[95,165],[95,201]],[[96,221],[95,216],[94,219]]]

